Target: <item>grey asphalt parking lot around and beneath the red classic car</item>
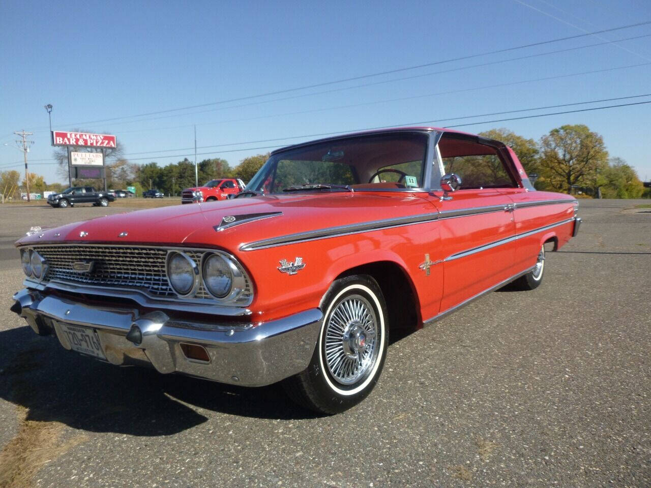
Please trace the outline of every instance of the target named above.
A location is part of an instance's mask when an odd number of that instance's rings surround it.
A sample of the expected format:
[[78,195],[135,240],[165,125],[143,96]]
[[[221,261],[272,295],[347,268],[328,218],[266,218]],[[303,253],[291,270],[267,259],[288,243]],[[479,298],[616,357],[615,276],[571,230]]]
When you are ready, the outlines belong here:
[[395,342],[337,416],[276,386],[117,368],[8,308],[13,242],[125,208],[0,207],[0,487],[648,487],[651,208],[581,200],[534,291],[490,293]]

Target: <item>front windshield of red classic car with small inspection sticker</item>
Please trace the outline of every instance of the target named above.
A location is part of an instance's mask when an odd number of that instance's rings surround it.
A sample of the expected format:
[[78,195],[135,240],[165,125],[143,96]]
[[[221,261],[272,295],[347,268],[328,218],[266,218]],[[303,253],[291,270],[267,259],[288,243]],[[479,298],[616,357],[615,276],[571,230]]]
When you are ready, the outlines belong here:
[[387,191],[423,187],[427,135],[360,135],[273,154],[247,190],[270,195],[296,191]]

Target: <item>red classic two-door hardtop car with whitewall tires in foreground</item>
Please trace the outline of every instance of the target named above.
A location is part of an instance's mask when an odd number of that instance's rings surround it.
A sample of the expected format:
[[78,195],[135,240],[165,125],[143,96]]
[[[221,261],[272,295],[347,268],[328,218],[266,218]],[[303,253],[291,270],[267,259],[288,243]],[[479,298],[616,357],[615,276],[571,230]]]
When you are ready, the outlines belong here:
[[322,413],[380,377],[389,334],[513,283],[577,202],[535,191],[505,144],[436,128],[359,133],[271,153],[236,198],[111,215],[16,243],[12,310],[113,364],[246,386],[283,381]]

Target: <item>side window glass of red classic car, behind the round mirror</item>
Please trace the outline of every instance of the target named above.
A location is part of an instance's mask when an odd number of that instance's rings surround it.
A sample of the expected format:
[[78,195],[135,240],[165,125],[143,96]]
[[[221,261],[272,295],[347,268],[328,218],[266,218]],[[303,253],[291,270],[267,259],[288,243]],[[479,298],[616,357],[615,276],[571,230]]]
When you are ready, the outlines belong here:
[[506,161],[492,146],[465,139],[441,137],[439,150],[443,170],[461,176],[462,190],[518,186],[508,170]]

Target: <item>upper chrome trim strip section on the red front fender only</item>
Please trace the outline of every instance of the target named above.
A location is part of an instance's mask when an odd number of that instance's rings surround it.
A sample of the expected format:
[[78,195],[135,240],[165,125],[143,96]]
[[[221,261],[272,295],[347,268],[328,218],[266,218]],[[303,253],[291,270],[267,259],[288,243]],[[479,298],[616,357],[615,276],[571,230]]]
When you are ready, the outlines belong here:
[[296,244],[299,242],[316,241],[317,239],[327,239],[328,237],[349,236],[350,234],[359,234],[360,232],[370,232],[372,230],[422,224],[425,222],[436,221],[438,218],[438,213],[421,213],[419,215],[410,215],[409,217],[396,217],[393,219],[384,219],[380,221],[363,222],[359,224],[348,224],[337,227],[328,227],[319,230],[310,230],[308,232],[287,234],[286,236],[272,237],[271,239],[264,239],[262,241],[243,244],[240,246],[240,251],[256,251],[258,249],[267,249],[268,247],[284,246],[288,244]]

